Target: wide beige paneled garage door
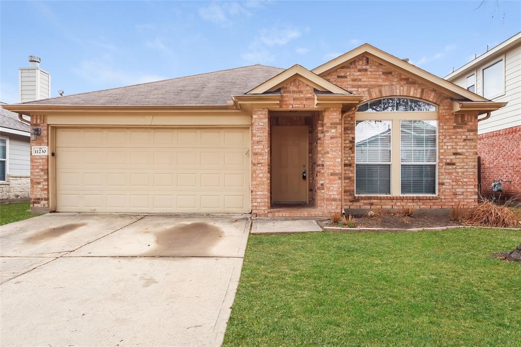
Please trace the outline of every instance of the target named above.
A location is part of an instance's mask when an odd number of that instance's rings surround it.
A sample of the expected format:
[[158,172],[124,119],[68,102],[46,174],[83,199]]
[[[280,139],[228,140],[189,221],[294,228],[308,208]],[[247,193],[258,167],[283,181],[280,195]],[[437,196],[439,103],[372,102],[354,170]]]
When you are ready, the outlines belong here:
[[250,212],[250,131],[57,129],[59,212]]

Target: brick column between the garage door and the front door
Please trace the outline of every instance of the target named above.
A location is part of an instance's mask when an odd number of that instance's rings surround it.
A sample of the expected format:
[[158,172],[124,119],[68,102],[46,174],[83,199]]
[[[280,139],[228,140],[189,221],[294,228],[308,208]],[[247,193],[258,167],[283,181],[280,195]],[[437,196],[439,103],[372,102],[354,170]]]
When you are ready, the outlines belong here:
[[252,118],[252,213],[267,217],[270,206],[270,139],[267,108],[253,108]]

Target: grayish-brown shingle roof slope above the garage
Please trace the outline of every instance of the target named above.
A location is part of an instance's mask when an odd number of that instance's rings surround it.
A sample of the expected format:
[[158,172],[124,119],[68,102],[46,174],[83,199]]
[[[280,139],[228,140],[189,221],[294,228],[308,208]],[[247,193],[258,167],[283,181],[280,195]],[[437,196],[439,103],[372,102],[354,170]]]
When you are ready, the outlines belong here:
[[27,105],[210,106],[227,105],[284,69],[251,65],[235,69],[141,83],[89,93],[26,102]]

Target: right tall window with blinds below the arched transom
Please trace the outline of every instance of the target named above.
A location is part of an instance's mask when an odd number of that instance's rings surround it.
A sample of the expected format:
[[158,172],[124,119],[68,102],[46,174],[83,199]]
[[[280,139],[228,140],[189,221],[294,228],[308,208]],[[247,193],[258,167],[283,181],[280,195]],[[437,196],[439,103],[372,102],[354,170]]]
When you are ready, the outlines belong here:
[[436,194],[436,120],[400,121],[402,194]]

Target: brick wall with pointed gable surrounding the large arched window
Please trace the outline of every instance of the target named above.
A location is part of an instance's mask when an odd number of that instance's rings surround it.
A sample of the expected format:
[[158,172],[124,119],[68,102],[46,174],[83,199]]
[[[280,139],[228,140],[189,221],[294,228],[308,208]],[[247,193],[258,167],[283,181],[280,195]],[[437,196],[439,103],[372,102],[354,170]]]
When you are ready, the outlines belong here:
[[416,97],[438,106],[438,196],[355,196],[354,114],[344,116],[344,207],[452,208],[477,202],[477,119],[455,116],[451,98],[366,56],[323,75],[365,100],[386,96]]

